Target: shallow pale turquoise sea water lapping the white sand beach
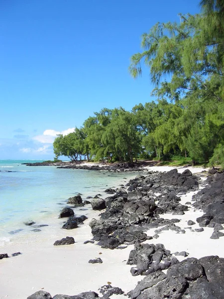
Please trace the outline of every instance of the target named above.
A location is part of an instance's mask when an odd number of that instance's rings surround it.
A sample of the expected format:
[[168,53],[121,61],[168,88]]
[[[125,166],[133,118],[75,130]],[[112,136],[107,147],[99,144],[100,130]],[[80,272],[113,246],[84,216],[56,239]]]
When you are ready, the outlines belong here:
[[[56,166],[26,166],[35,160],[0,160],[0,245],[30,232],[24,221],[48,223],[57,217],[69,197],[98,193],[125,183],[133,173],[59,169]],[[3,242],[4,243],[4,242]]]

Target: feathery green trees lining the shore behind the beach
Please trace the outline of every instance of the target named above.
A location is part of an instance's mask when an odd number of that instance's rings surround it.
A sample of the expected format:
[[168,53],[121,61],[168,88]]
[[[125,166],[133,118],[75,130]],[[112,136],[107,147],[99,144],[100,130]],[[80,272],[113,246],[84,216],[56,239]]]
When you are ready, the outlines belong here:
[[157,101],[95,112],[55,139],[56,156],[133,163],[176,154],[224,165],[224,1],[201,6],[200,14],[180,14],[179,23],[155,24],[131,57],[134,78],[142,63],[149,67]]

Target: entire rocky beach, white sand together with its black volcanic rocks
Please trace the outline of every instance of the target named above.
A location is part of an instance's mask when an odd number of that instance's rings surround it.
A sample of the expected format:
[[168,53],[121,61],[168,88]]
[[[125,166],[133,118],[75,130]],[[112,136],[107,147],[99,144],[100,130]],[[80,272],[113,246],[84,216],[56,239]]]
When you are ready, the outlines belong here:
[[[65,220],[63,229],[38,246],[16,244],[13,250],[22,255],[3,257],[2,294],[14,298],[6,291],[13,280],[17,298],[23,299],[32,294],[31,286],[36,292],[28,299],[123,299],[126,294],[131,299],[193,299],[204,293],[203,298],[223,298],[224,173],[211,169],[208,175],[198,167],[178,171],[147,165],[125,185],[108,186],[104,198],[69,198],[59,218],[59,223]],[[85,206],[92,209],[88,219]],[[10,245],[5,248],[12,252]],[[26,290],[19,286],[18,269]],[[51,297],[62,290],[71,296]]]

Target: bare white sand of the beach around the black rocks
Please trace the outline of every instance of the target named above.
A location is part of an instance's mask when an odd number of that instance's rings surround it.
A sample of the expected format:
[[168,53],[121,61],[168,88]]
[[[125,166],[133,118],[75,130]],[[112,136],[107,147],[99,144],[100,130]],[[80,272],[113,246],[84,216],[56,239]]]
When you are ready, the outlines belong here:
[[[147,167],[147,170],[168,171],[175,167]],[[188,167],[193,173],[198,173],[204,168]],[[183,172],[186,168],[178,168]],[[190,192],[181,197],[182,204],[191,201]],[[130,274],[131,266],[126,265],[129,252],[133,245],[125,249],[102,249],[96,244],[83,244],[92,239],[89,222],[92,218],[99,217],[99,211],[88,211],[88,220],[78,229],[65,231],[60,226],[54,235],[40,238],[35,242],[22,242],[21,244],[7,244],[0,248],[0,253],[22,252],[22,255],[0,260],[0,299],[26,299],[29,295],[39,290],[56,294],[77,295],[84,291],[95,291],[110,282],[113,287],[121,288],[125,293],[134,289],[142,277],[133,277]],[[189,257],[200,258],[208,255],[224,257],[224,238],[213,240],[212,228],[204,228],[203,232],[193,232],[188,228],[187,221],[193,220],[203,214],[202,211],[194,211],[191,207],[185,215],[161,215],[163,218],[179,218],[176,225],[186,228],[185,234],[174,231],[164,231],[158,239],[146,241],[148,243],[162,243],[171,253],[186,251]],[[60,220],[62,222],[62,220]],[[193,229],[199,228],[196,223]],[[147,234],[154,235],[155,229],[150,229]],[[53,246],[56,240],[66,236],[73,236],[75,244],[66,246]],[[102,253],[102,254],[100,254]],[[90,259],[100,257],[103,264],[89,264]],[[181,261],[184,258],[178,257]]]

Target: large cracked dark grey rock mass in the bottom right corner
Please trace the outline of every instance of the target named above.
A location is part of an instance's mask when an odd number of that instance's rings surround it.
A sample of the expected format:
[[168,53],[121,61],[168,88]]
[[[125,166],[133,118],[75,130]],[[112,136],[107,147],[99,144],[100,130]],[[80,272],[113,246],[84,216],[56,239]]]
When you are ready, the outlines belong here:
[[147,275],[129,292],[131,299],[222,299],[224,298],[224,259],[219,257],[188,258],[171,265],[165,275]]

